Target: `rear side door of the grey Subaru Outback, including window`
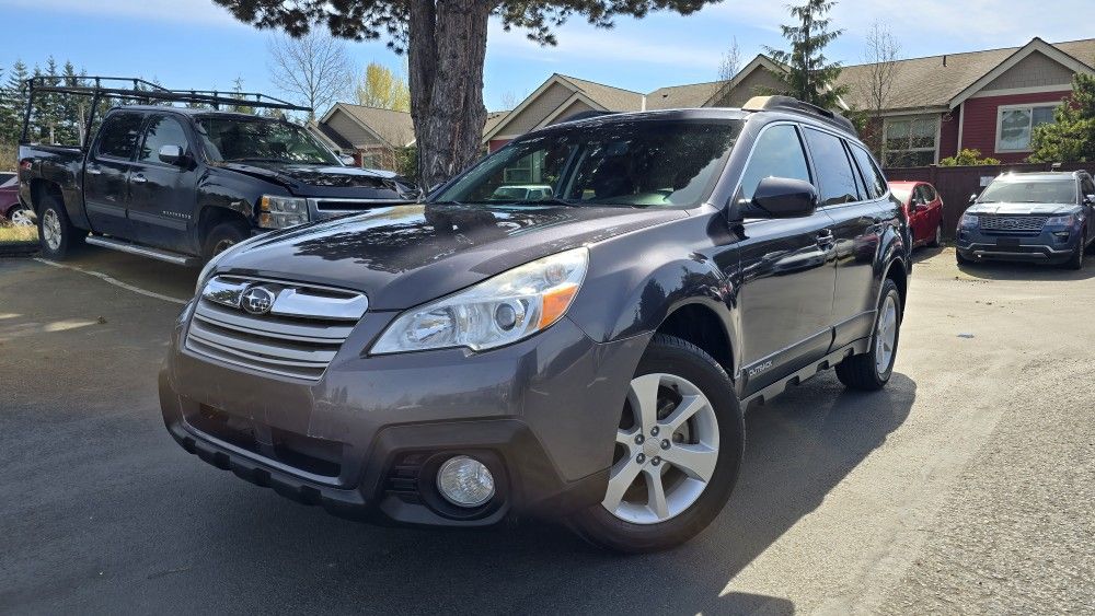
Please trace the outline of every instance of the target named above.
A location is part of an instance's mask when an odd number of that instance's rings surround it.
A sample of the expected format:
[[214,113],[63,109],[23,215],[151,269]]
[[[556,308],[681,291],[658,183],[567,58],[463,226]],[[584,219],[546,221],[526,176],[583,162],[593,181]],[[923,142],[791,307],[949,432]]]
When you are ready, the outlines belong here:
[[[869,160],[869,155],[857,146],[815,128],[806,128],[806,142],[821,183],[821,209],[833,221],[837,287],[832,348],[837,349],[869,335],[874,325],[875,264],[885,223],[886,188],[880,174],[860,174],[853,159]],[[890,207],[896,212],[897,206]]]

